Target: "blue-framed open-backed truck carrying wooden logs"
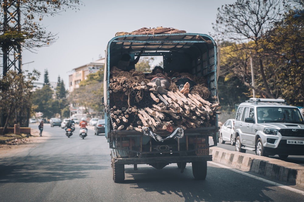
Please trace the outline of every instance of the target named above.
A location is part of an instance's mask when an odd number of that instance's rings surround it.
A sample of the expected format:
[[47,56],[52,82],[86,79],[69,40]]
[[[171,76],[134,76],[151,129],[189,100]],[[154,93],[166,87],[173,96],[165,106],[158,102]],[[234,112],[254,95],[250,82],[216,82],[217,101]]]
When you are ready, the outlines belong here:
[[[188,100],[175,99],[182,95],[170,90],[161,95],[144,79],[149,72],[136,71],[134,65],[130,71],[116,67],[121,55],[134,60],[140,52],[141,57],[161,56],[165,72],[187,69],[204,83],[205,97],[188,93]],[[209,35],[173,28],[116,33],[108,42],[102,102],[115,183],[124,181],[125,165],[137,170],[138,164],[156,169],[176,164],[182,173],[191,163],[194,178],[206,178],[207,161],[212,161],[209,148],[219,142],[218,52]]]

